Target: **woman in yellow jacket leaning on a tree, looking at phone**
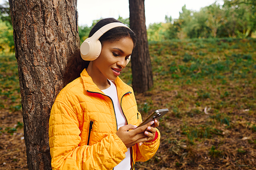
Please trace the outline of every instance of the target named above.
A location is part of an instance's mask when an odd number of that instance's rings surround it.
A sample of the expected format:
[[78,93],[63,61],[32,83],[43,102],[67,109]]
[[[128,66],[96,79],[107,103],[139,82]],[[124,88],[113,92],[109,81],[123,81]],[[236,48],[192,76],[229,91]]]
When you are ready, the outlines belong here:
[[[112,22],[98,21],[89,37]],[[135,169],[159,147],[160,133],[142,118],[132,88],[118,77],[130,60],[136,36],[116,27],[100,38],[101,52],[93,61],[71,59],[63,88],[51,110],[49,144],[53,169]],[[82,51],[82,46],[81,46]],[[74,80],[75,79],[75,80]]]

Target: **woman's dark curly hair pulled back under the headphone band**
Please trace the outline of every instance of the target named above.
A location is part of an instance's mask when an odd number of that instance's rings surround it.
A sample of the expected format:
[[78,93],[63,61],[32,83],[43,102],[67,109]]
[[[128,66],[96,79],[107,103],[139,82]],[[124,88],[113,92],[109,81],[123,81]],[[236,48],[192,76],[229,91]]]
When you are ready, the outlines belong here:
[[[101,27],[107,25],[108,23],[112,22],[120,22],[114,18],[105,18],[99,20],[96,25],[92,28],[89,37],[91,37],[96,31],[98,31]],[[125,27],[116,27],[113,28],[106,33],[104,33],[100,38],[99,41],[101,42],[102,46],[104,45],[105,41],[118,41],[122,38],[130,37],[133,40],[134,47],[136,45],[136,35],[135,33],[127,29]],[[63,75],[63,81],[65,86],[75,80],[76,78],[80,77],[80,74],[84,68],[87,68],[90,61],[84,61],[80,55],[80,49],[74,54],[73,57],[69,58],[65,73]]]

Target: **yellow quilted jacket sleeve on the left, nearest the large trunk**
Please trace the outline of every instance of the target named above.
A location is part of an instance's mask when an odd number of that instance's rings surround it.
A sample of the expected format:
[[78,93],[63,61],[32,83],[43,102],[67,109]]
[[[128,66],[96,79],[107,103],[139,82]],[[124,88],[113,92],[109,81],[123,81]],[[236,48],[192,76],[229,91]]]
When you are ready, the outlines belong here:
[[125,158],[125,147],[116,134],[93,145],[79,145],[79,117],[67,105],[55,102],[49,122],[53,169],[110,169]]

